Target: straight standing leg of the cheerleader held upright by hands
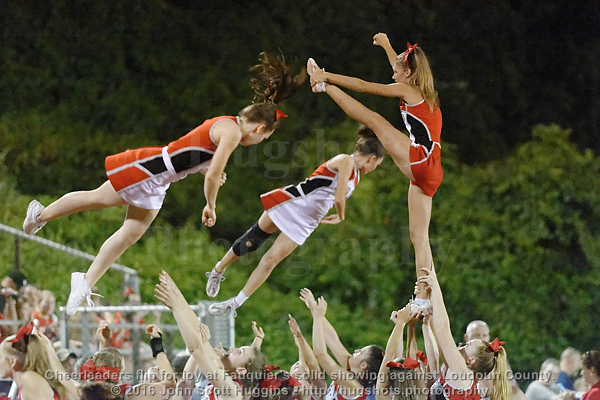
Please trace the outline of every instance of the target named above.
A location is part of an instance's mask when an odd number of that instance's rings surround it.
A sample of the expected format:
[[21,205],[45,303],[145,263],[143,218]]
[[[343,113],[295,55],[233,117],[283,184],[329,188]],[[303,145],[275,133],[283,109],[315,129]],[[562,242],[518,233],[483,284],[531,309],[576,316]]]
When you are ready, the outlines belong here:
[[[408,225],[410,240],[415,248],[417,278],[423,275],[421,268],[431,268],[433,256],[429,244],[429,222],[431,220],[432,198],[421,188],[410,185],[408,189]],[[419,286],[418,299],[426,299],[423,285]]]

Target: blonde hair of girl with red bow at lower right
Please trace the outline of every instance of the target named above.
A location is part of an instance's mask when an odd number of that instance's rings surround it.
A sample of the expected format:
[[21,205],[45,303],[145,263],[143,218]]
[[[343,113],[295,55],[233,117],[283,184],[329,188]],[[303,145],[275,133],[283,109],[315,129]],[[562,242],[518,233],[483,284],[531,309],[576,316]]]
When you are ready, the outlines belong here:
[[[480,339],[481,340],[481,339]],[[509,400],[512,397],[512,388],[508,381],[508,361],[504,347],[500,347],[496,353],[490,350],[489,343],[483,343],[477,352],[475,362],[469,366],[475,372],[478,379],[485,377],[494,371],[492,376],[491,400]]]

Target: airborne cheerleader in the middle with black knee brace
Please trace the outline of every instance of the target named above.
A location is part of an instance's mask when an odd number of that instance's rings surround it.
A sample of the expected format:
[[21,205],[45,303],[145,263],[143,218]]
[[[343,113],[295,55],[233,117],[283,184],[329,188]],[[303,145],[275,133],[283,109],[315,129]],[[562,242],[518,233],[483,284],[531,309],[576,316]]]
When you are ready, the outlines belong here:
[[[263,284],[271,271],[317,228],[319,223],[338,224],[344,220],[346,199],[360,180],[360,174],[373,171],[385,155],[379,139],[362,126],[352,155],[339,154],[321,165],[299,185],[286,186],[261,196],[265,212],[258,222],[238,238],[231,249],[207,273],[206,292],[215,297],[223,273],[232,262],[255,251],[277,230],[281,234],[261,258],[244,288],[236,297],[209,306],[212,315],[221,315],[241,306]],[[337,213],[325,216],[335,206]]]

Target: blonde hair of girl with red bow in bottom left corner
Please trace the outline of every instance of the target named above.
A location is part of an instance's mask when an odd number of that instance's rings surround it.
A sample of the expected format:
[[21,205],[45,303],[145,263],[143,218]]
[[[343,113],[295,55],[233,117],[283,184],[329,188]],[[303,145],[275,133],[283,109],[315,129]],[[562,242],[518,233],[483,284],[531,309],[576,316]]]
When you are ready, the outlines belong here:
[[[7,339],[14,338],[10,336]],[[35,335],[29,335],[29,341],[25,344],[25,340],[20,340],[17,347],[13,346],[13,343],[8,342],[6,339],[2,342],[2,347],[9,356],[15,357],[21,366],[21,371],[32,371],[42,376],[48,385],[54,390],[58,397],[64,399],[67,396],[67,389],[60,383],[56,378],[55,374],[48,374],[48,371],[52,371],[50,367],[50,360],[48,355],[42,346],[42,343]]]

